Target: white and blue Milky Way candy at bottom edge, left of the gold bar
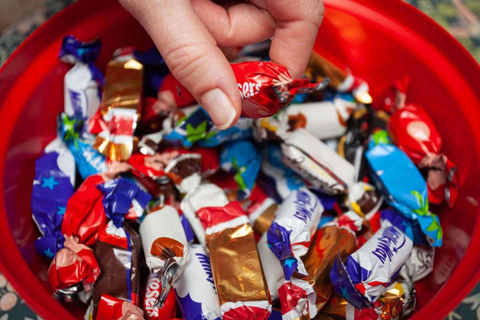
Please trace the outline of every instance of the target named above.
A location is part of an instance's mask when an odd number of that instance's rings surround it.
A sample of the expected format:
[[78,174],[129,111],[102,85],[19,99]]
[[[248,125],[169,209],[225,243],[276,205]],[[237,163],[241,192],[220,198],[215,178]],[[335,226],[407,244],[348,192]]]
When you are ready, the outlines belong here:
[[212,267],[205,247],[191,244],[190,259],[182,275],[173,283],[185,320],[220,320]]

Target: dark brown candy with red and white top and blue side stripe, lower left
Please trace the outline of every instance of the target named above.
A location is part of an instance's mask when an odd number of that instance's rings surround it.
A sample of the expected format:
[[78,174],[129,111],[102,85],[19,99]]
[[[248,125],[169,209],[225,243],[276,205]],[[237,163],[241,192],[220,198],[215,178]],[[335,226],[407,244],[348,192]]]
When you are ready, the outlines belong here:
[[104,293],[139,305],[141,253],[142,240],[130,224],[125,223],[123,228],[116,228],[110,222],[99,234],[95,243],[95,255],[103,272],[94,287],[94,318]]

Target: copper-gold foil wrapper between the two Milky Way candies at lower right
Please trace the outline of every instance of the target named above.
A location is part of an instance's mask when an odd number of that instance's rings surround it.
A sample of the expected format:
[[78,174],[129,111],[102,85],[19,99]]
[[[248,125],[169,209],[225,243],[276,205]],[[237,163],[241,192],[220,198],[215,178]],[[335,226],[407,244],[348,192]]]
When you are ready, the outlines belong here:
[[317,310],[322,309],[330,298],[333,287],[330,270],[338,253],[345,259],[356,249],[356,237],[347,229],[335,225],[325,226],[317,230],[307,254],[302,257],[308,276],[298,278],[313,283],[317,294]]

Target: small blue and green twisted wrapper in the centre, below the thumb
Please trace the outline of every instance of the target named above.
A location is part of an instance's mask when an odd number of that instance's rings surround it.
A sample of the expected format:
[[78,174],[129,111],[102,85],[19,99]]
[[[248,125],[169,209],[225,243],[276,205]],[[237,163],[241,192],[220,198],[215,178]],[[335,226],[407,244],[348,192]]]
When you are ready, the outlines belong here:
[[234,174],[238,185],[238,200],[250,196],[261,161],[262,153],[248,140],[236,140],[223,145],[220,166]]

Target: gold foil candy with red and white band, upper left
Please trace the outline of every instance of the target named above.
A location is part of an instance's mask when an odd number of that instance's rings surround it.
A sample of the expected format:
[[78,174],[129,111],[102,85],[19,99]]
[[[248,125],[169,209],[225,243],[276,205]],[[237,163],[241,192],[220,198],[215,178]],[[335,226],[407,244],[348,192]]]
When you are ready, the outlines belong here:
[[100,106],[102,131],[94,148],[110,160],[126,161],[137,141],[134,131],[141,112],[143,66],[131,56],[111,60],[105,72],[105,88]]

